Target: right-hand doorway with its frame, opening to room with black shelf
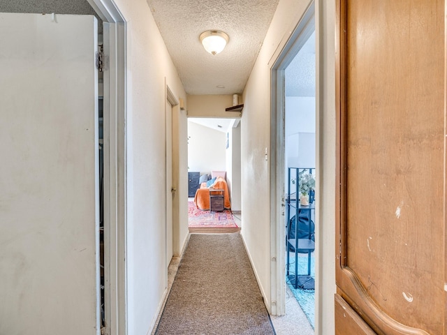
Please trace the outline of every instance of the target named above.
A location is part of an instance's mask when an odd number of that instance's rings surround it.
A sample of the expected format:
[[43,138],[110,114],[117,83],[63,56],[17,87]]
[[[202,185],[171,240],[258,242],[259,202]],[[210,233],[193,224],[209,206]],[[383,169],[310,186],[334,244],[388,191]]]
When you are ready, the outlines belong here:
[[[272,300],[277,301],[272,313],[293,315],[300,334],[314,334],[315,279],[318,281],[314,238],[318,230],[315,41],[312,2],[272,66],[271,145],[277,152],[270,162],[271,245],[272,255],[277,256],[271,272]],[[300,199],[301,193],[306,197]]]

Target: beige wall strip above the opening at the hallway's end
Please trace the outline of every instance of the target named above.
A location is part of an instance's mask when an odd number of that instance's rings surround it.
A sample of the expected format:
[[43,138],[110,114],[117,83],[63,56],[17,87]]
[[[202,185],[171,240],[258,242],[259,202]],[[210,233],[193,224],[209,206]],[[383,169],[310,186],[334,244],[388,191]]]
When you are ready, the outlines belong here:
[[230,117],[239,118],[240,112],[226,112],[233,106],[231,95],[188,96],[188,117]]

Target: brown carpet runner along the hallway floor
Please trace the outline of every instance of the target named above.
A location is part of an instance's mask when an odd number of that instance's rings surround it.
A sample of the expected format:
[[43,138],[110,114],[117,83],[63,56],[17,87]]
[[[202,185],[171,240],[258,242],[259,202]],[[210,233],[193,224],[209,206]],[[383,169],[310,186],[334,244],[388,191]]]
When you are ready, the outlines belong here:
[[191,234],[155,334],[275,334],[240,234]]

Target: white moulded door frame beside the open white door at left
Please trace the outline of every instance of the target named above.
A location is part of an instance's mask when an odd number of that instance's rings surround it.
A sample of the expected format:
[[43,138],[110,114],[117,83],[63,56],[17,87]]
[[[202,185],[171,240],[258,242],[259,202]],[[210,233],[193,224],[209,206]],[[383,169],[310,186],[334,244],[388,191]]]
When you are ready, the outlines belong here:
[[[126,20],[112,0],[87,0],[103,20],[105,334],[126,324]],[[99,331],[98,331],[99,332]]]

